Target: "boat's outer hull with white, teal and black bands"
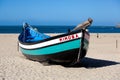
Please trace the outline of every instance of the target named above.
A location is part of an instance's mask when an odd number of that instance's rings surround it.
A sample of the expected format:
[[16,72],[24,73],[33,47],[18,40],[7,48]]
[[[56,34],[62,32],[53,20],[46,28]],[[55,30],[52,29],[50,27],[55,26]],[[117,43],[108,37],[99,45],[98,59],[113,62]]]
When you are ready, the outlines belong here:
[[[77,60],[79,53],[80,59],[86,55],[89,44],[88,36],[86,31],[78,31],[34,45],[19,43],[19,46],[23,55],[31,60],[72,63]],[[38,47],[38,45],[43,46]]]

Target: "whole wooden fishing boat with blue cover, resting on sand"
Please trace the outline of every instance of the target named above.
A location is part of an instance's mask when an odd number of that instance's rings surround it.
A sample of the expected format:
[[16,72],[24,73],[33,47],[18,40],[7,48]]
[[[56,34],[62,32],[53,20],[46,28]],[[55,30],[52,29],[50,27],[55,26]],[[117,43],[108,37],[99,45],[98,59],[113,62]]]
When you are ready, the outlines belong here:
[[[18,37],[20,51],[28,59],[36,61],[50,60],[58,63],[79,62],[85,57],[88,50],[90,35],[87,27],[90,26],[91,23],[92,19],[88,19],[72,31],[54,37],[49,37],[45,34],[38,36],[40,33],[34,30],[30,25],[26,24],[28,29],[32,29],[34,33],[37,33],[37,37],[43,39],[25,41],[25,36],[27,36],[26,33],[29,33],[30,35],[31,31],[27,32],[25,29],[26,26],[24,26],[23,32]],[[27,40],[30,39],[31,37]]]

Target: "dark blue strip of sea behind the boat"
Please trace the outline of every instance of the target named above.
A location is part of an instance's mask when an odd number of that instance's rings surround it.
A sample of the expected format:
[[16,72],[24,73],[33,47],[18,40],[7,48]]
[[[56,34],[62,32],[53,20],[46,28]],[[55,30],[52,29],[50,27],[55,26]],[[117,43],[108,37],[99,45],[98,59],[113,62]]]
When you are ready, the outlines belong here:
[[[41,33],[65,33],[68,29],[72,30],[75,26],[38,26],[33,25]],[[120,33],[120,28],[115,26],[90,26],[90,33]],[[0,26],[0,33],[21,33],[22,25],[19,26]]]

